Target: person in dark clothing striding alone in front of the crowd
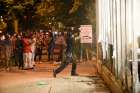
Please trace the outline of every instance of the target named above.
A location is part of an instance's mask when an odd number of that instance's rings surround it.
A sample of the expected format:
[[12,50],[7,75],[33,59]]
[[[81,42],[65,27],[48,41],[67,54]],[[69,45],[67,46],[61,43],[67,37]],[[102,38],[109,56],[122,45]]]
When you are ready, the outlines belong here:
[[71,69],[71,75],[75,76],[78,75],[76,73],[76,61],[73,59],[73,38],[72,38],[72,34],[71,32],[67,33],[67,39],[66,39],[66,59],[64,59],[64,61],[61,63],[61,65],[53,70],[53,76],[56,77],[56,74],[58,74],[59,72],[61,72],[65,67],[68,66],[69,63],[72,63],[72,69]]

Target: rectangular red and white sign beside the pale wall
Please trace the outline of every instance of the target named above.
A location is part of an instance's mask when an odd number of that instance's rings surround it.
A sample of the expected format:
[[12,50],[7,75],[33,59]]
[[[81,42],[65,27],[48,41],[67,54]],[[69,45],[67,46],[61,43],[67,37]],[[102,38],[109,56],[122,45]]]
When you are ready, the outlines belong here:
[[80,38],[81,43],[92,43],[92,25],[81,25]]

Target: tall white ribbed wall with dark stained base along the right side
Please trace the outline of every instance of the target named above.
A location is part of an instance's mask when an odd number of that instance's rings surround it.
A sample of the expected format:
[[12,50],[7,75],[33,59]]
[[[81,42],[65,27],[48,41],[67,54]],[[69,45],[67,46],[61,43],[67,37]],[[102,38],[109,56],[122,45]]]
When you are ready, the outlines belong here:
[[139,9],[140,0],[96,0],[98,71],[113,93],[140,93]]

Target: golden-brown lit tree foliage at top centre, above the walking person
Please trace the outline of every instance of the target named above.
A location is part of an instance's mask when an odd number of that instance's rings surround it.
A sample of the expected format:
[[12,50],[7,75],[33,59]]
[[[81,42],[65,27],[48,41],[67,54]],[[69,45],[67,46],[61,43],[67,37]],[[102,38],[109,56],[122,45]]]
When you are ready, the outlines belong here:
[[[68,24],[81,5],[81,0],[44,0],[37,6],[36,14],[39,15],[38,23],[44,26],[50,22]],[[54,19],[55,18],[55,19]],[[70,24],[70,23],[69,23]],[[46,26],[47,26],[46,25]]]

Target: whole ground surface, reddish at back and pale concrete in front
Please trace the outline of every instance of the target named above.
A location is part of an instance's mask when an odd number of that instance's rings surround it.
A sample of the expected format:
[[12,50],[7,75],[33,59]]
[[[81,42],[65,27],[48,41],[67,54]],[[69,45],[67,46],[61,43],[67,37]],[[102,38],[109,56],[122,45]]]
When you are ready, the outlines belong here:
[[79,76],[70,76],[69,65],[57,78],[56,65],[38,64],[35,71],[0,72],[0,93],[110,93],[104,81],[96,76],[95,62],[79,63]]

